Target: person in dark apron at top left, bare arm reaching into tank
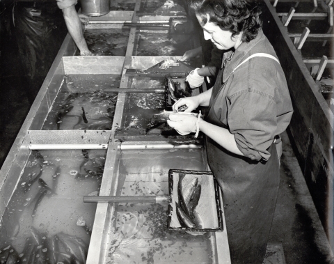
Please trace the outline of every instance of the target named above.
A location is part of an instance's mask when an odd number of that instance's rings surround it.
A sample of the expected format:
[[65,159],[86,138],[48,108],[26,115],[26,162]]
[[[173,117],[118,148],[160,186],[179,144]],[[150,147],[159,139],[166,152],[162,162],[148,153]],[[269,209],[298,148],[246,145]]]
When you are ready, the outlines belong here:
[[80,49],[80,54],[92,55],[84,39],[76,3],[77,0],[15,1],[14,32],[27,79],[26,94],[31,104],[54,62],[67,30]]

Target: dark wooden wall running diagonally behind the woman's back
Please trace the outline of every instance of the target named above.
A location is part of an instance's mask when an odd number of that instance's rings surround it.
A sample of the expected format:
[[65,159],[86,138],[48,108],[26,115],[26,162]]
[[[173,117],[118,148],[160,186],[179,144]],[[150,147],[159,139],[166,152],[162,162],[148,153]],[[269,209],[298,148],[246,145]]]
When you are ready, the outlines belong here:
[[285,71],[294,114],[289,125],[292,143],[328,240],[333,245],[333,113],[287,35],[276,10],[264,0],[263,30]]

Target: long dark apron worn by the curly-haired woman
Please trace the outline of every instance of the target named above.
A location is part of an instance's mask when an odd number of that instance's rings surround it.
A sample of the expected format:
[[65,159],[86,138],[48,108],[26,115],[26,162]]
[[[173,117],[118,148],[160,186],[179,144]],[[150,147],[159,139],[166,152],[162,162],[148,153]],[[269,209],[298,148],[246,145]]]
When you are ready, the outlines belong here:
[[[224,88],[218,73],[205,121],[226,127],[214,113],[214,98]],[[267,162],[235,155],[206,137],[210,169],[223,192],[225,222],[232,264],[262,264],[276,206],[280,169],[276,144],[269,147]]]

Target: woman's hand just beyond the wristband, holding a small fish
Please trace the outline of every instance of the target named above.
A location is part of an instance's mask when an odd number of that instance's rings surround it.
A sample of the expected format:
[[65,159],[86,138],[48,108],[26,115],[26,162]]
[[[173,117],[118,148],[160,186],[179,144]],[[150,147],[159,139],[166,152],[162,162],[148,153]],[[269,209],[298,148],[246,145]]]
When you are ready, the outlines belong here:
[[182,112],[170,114],[167,121],[168,125],[173,127],[182,136],[195,133],[197,130],[196,122],[196,114],[182,114]]

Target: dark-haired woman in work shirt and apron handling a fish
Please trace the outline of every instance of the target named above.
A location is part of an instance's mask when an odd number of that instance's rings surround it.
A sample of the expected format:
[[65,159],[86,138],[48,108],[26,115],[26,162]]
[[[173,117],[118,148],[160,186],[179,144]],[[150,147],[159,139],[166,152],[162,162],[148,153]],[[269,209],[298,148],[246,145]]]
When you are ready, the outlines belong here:
[[279,134],[292,117],[285,75],[250,0],[189,0],[205,34],[225,50],[214,87],[182,98],[174,111],[209,107],[205,120],[170,115],[180,134],[200,130],[223,192],[232,264],[262,263],[279,185]]

